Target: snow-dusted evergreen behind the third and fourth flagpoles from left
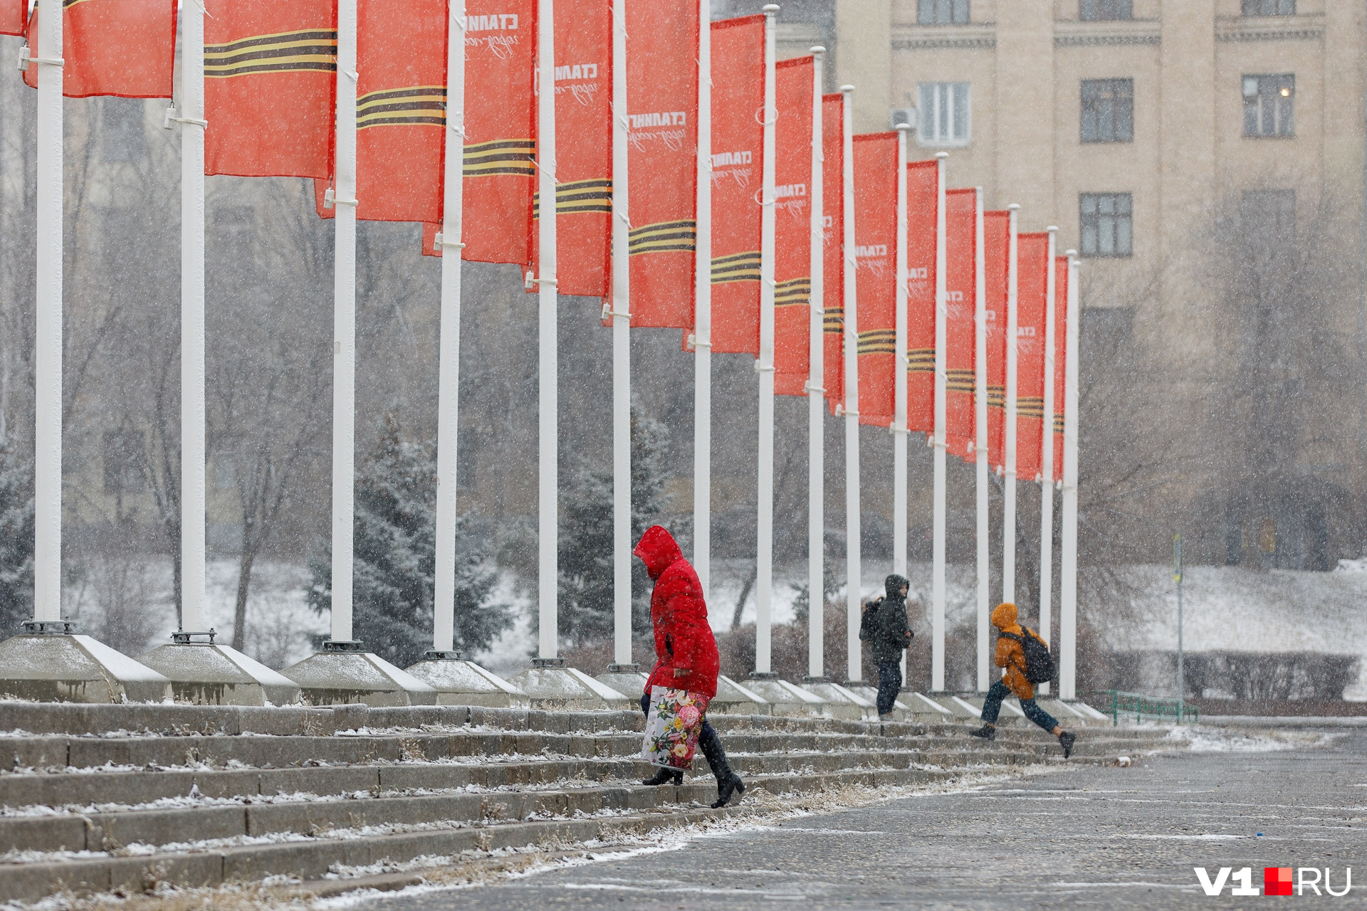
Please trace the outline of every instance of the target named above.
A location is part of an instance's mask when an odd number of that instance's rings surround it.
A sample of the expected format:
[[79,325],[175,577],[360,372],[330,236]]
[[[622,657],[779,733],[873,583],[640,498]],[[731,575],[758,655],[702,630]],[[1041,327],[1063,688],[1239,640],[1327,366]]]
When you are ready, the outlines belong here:
[[[432,647],[436,567],[436,468],[432,453],[401,438],[392,415],[355,478],[353,635],[401,668]],[[309,605],[332,606],[331,553],[310,561]],[[495,574],[457,526],[455,647],[484,649],[510,623],[509,606],[491,602]]]

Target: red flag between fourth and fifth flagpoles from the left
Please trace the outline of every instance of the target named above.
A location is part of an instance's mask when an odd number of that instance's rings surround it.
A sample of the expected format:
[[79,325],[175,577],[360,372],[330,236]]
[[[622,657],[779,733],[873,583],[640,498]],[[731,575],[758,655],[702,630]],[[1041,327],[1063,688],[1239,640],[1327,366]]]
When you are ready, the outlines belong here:
[[466,29],[462,258],[526,265],[536,190],[536,3],[472,0]]

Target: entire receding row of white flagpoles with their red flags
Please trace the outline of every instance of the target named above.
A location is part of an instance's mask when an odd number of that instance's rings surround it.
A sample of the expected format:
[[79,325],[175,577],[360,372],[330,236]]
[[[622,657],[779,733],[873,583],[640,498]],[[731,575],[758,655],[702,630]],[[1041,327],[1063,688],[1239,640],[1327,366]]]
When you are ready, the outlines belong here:
[[[21,68],[38,89],[36,621],[60,623],[62,97],[172,97],[176,5],[37,0],[31,14],[27,5],[0,0],[0,33],[27,37]],[[846,429],[849,679],[863,673],[858,428],[875,425],[894,434],[894,572],[906,571],[909,434],[925,433],[932,449],[935,690],[945,687],[947,456],[975,464],[979,688],[990,683],[988,471],[1005,490],[1007,601],[1016,479],[1044,486],[1046,638],[1051,486],[1061,486],[1061,695],[1072,698],[1077,264],[1055,255],[1054,229],[1018,232],[1016,206],[984,212],[980,188],[947,190],[945,153],[909,161],[905,127],[854,135],[853,89],[822,92],[822,48],[776,60],[776,5],[720,22],[708,22],[705,0],[469,5],[182,5],[182,85],[167,113],[167,126],[182,130],[183,168],[182,627],[204,626],[204,176],[302,176],[314,180],[319,214],[335,219],[336,231],[335,643],[351,643],[353,634],[355,223],[420,221],[422,253],[443,257],[436,651],[454,645],[461,264],[515,262],[540,314],[540,662],[559,661],[556,298],[570,294],[601,298],[612,331],[618,664],[632,662],[629,329],[675,328],[696,365],[694,563],[704,591],[711,355],[756,358],[756,673],[771,671],[774,396],[805,395],[811,676],[824,673],[817,593],[828,406]]]

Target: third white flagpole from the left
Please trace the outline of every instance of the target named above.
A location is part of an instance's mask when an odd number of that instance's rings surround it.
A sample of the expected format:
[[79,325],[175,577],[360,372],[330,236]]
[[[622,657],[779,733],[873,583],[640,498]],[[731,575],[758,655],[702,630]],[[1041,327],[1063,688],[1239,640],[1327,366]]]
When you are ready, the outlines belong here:
[[338,0],[336,253],[332,276],[332,642],[351,639],[355,515],[355,4]]

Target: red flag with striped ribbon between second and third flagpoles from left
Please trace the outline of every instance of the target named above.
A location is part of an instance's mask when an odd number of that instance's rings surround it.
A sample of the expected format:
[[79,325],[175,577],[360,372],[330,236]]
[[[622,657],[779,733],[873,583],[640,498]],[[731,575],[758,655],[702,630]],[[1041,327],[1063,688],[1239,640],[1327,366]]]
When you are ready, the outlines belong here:
[[332,173],[335,0],[205,0],[205,12],[204,172]]

